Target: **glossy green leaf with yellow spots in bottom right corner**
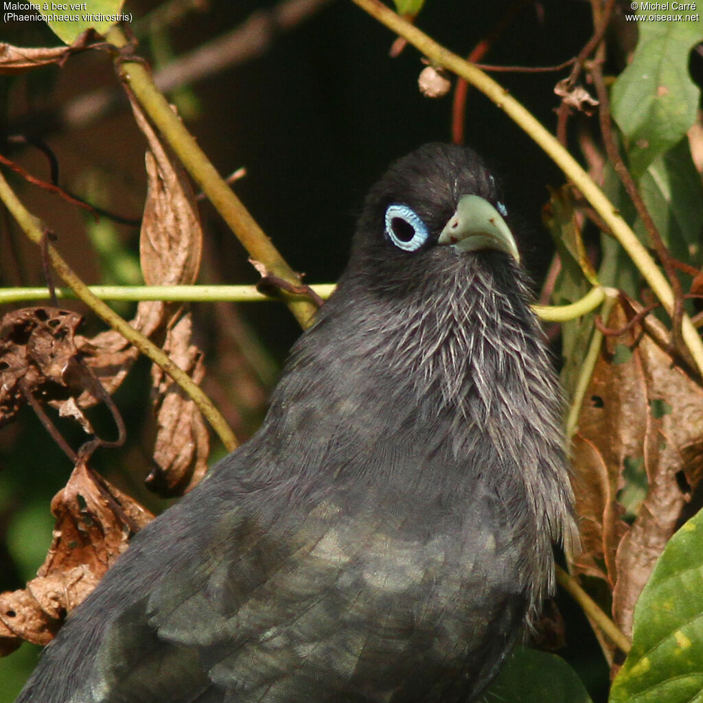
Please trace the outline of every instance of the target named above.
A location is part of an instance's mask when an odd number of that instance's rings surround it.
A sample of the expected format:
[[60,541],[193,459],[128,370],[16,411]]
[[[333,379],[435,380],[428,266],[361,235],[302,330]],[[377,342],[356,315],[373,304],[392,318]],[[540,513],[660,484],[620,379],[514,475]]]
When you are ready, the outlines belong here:
[[671,538],[635,607],[610,703],[703,700],[703,511]]

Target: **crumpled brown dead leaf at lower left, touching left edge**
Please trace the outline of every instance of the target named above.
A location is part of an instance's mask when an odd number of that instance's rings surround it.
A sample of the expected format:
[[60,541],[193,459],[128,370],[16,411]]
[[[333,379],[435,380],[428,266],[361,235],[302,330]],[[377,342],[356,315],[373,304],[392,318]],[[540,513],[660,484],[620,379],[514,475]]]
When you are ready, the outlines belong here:
[[[53,540],[37,578],[0,594],[0,643],[46,645],[153,515],[79,461],[53,501]],[[0,654],[8,651],[0,652]]]

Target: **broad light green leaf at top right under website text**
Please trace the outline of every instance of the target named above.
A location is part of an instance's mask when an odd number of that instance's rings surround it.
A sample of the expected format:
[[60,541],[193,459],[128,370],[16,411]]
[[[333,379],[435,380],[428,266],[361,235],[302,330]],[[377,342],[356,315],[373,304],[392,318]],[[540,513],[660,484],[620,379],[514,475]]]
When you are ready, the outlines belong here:
[[612,116],[624,135],[636,177],[681,140],[695,121],[700,94],[688,72],[688,53],[703,37],[701,13],[672,10],[656,15],[681,20],[650,20],[650,13],[638,14],[637,48],[612,88]]

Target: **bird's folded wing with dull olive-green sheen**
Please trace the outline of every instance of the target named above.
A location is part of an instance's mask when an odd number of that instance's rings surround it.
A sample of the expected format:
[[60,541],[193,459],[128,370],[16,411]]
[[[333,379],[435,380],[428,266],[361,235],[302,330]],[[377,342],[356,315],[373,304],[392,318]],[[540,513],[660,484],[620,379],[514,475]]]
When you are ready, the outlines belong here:
[[[432,700],[434,681],[459,676],[456,661],[482,657],[463,651],[482,646],[482,624],[510,631],[522,617],[512,586],[482,596],[485,560],[463,557],[456,534],[404,538],[407,516],[345,512],[332,499],[281,515],[215,520],[221,541],[195,555],[200,568],[165,575],[109,626],[86,699],[368,703],[402,688],[404,700]],[[461,605],[467,588],[476,612]],[[481,612],[486,602],[496,612]]]

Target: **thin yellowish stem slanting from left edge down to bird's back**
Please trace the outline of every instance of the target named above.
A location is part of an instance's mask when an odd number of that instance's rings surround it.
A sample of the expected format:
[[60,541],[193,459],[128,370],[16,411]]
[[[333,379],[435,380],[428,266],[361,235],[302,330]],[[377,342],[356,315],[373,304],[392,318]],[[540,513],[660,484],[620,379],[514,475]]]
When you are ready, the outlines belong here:
[[[22,205],[22,202],[20,202],[20,199],[15,195],[2,174],[0,174],[0,200],[4,202],[27,237],[35,244],[41,246],[44,237],[41,222],[36,217],[32,216],[25,206]],[[165,370],[183,391],[193,399],[195,405],[198,406],[198,410],[200,410],[210,425],[212,425],[212,429],[217,432],[218,437],[221,439],[227,451],[232,451],[238,444],[237,439],[226,420],[212,404],[212,401],[207,395],[205,395],[200,386],[193,382],[190,376],[179,366],[176,366],[172,359],[162,352],[153,342],[150,342],[144,335],[138,333],[127,321],[112,311],[107,304],[96,297],[96,295],[93,295],[88,286],[72,271],[70,266],[52,245],[48,245],[47,249],[53,269],[63,281],[70,286],[76,296],[98,315],[98,317],[101,317],[108,323],[113,330],[117,330],[128,342],[134,344],[142,354],[148,356],[149,359]]]

